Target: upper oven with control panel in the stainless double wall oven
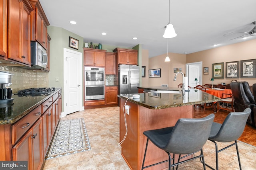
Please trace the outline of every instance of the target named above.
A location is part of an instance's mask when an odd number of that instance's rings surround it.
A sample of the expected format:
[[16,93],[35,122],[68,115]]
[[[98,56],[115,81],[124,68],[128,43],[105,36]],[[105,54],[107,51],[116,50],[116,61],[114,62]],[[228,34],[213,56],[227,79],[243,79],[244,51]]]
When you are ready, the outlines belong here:
[[85,67],[84,76],[85,85],[105,84],[105,68],[103,67]]

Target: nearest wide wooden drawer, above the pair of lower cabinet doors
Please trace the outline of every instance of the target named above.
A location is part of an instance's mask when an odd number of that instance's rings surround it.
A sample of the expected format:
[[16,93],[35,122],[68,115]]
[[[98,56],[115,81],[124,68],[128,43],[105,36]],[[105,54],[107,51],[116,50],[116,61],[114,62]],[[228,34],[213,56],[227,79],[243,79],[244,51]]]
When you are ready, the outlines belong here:
[[36,107],[25,117],[12,125],[12,145],[14,145],[16,141],[20,139],[30,127],[32,127],[36,120],[41,117],[41,110],[41,106]]

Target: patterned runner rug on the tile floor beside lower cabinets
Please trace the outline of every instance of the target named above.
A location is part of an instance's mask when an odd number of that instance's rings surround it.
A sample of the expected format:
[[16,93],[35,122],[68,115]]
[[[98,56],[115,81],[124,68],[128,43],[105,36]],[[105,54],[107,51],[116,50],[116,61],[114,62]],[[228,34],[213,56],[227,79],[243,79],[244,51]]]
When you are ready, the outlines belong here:
[[83,118],[60,121],[45,159],[90,150]]

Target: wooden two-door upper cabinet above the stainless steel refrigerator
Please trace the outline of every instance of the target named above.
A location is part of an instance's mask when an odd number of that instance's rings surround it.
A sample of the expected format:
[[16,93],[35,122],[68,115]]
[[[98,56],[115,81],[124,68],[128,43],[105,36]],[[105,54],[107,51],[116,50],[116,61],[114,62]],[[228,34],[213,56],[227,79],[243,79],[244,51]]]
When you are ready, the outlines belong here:
[[116,48],[113,52],[117,53],[118,64],[137,65],[138,63],[138,50]]

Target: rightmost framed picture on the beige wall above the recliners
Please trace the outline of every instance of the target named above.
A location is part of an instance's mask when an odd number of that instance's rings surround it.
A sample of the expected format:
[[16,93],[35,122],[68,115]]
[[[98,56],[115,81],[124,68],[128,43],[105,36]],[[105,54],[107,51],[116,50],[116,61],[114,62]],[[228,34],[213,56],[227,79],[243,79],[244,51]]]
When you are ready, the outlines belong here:
[[256,78],[256,59],[240,61],[240,77],[241,78]]

